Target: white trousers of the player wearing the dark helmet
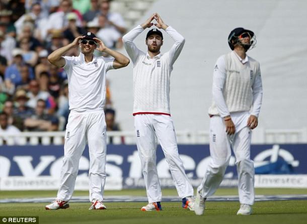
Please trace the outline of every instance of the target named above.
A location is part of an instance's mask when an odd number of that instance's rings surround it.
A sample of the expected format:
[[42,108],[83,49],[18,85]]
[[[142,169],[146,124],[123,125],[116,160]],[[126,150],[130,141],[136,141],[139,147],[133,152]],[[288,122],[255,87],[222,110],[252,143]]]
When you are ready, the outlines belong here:
[[[232,117],[233,118],[233,117]],[[244,123],[247,122],[246,120]],[[237,128],[236,122],[235,127]],[[246,123],[245,123],[246,124]],[[231,157],[231,146],[236,157],[238,171],[238,190],[241,204],[254,204],[254,162],[250,159],[251,130],[245,125],[229,138],[225,132],[224,121],[219,116],[210,119],[211,161],[197,191],[203,198],[214,194],[220,185]]]

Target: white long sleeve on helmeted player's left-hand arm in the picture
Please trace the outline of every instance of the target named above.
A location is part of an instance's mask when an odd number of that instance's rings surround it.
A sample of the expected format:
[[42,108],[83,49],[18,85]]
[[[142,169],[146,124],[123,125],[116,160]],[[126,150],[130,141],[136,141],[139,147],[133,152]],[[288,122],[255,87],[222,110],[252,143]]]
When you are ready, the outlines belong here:
[[217,59],[216,64],[214,65],[212,95],[218,113],[222,118],[230,115],[223,96],[223,87],[225,80],[226,80],[226,65],[224,57],[221,56]]

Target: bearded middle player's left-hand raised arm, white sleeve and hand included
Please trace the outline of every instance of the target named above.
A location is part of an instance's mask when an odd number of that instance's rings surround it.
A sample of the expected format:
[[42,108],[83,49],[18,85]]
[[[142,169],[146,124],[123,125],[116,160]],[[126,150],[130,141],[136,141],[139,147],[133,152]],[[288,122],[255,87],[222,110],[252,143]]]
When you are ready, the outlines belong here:
[[146,28],[150,28],[152,25],[154,25],[152,20],[155,19],[156,13],[152,14],[143,24],[136,26],[131,31],[129,31],[127,34],[125,34],[122,38],[124,47],[131,58],[132,63],[134,64],[136,62],[136,59],[138,55],[141,53],[141,50],[139,50],[136,45],[133,43],[133,40],[144,31]]

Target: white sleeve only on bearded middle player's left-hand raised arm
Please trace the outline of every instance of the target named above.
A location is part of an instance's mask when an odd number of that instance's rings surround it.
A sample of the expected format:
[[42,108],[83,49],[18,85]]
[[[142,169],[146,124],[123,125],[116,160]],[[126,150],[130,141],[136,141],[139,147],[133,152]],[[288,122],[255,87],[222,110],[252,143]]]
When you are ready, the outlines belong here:
[[124,47],[133,64],[136,62],[138,56],[142,52],[136,47],[136,45],[133,43],[133,40],[143,31],[144,29],[140,25],[138,25],[123,36]]

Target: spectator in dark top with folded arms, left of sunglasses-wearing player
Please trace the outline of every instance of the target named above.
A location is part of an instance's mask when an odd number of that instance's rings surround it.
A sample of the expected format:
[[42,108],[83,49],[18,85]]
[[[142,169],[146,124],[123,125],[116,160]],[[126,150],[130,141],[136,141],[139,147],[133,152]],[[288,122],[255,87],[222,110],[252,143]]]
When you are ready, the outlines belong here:
[[24,126],[28,131],[58,131],[58,118],[46,114],[45,109],[45,100],[38,99],[35,107],[35,114],[24,121]]

